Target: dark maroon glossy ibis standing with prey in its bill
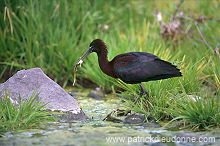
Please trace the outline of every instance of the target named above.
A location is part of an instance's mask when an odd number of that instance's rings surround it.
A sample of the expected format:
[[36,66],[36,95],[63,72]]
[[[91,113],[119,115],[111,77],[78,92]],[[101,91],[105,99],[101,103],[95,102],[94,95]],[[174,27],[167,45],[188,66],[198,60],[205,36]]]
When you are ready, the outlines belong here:
[[116,79],[119,78],[127,84],[140,84],[140,94],[134,104],[143,94],[149,96],[142,82],[182,76],[177,66],[147,52],[119,54],[109,61],[107,46],[101,39],[94,39],[90,43],[89,49],[80,57],[77,64],[82,63],[82,60],[93,52],[97,53],[99,67],[103,73]]

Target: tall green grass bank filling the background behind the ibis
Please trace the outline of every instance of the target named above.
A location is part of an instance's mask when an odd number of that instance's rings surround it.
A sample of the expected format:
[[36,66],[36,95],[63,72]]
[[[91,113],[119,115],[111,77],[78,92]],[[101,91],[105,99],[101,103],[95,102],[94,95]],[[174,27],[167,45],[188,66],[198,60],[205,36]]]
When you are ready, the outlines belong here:
[[[150,114],[158,121],[184,117],[183,121],[191,123],[193,127],[219,124],[219,119],[211,112],[211,109],[218,112],[219,106],[203,108],[200,105],[202,101],[204,105],[219,101],[220,61],[213,51],[219,48],[219,21],[197,23],[210,42],[208,47],[190,37],[184,37],[175,44],[165,42],[161,37],[161,25],[154,16],[155,12],[161,11],[163,21],[168,23],[179,1],[5,0],[1,3],[1,79],[6,80],[20,69],[40,67],[63,87],[71,85],[73,67],[78,58],[93,39],[101,38],[109,48],[109,60],[124,52],[149,52],[177,65],[183,73],[181,78],[143,83],[150,97],[142,97],[134,111]],[[181,5],[184,14],[192,18],[218,18],[219,7],[219,1],[214,0],[184,1]],[[108,29],[104,27],[106,25]],[[186,20],[184,27],[190,28],[193,37],[202,40],[194,21]],[[106,91],[115,92],[118,86],[124,88],[126,91],[120,95],[129,97],[131,100],[127,100],[128,103],[132,103],[139,94],[138,85],[124,84],[103,74],[96,54],[84,60],[77,78],[78,81],[91,80]],[[186,98],[188,95],[199,96],[201,101],[192,102]],[[192,106],[187,109],[187,105]],[[204,110],[207,113],[193,114]],[[185,116],[187,114],[188,118]],[[206,119],[205,115],[216,120],[209,121],[210,124],[195,121],[200,119],[199,116]],[[199,123],[201,125],[196,125]]]

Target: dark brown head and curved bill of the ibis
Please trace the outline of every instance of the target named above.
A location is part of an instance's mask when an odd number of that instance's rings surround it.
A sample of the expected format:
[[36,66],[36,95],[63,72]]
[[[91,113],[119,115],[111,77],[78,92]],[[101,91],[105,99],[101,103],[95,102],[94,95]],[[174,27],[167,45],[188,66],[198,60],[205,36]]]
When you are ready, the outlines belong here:
[[96,52],[97,54],[103,51],[107,52],[106,48],[107,47],[105,43],[101,39],[95,39],[90,43],[89,49],[80,57],[80,59],[83,60],[84,58],[86,58],[86,56],[88,56],[92,52]]

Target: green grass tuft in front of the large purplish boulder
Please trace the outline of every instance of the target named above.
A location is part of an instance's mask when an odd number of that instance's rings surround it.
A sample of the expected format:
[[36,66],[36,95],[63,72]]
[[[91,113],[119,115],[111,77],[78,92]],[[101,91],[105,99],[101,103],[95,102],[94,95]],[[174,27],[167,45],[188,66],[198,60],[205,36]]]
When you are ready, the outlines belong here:
[[0,132],[36,128],[41,123],[56,121],[52,112],[46,111],[46,104],[37,100],[33,93],[26,101],[21,97],[18,103],[12,102],[10,95],[0,97]]

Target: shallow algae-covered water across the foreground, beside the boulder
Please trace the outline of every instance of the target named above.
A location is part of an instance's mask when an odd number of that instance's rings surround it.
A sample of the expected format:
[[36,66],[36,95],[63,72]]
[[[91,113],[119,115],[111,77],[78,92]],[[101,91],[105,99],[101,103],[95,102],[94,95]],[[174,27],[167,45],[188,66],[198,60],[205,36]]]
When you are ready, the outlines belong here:
[[[69,89],[67,89],[69,90]],[[71,89],[72,90],[72,89]],[[125,109],[125,103],[116,96],[108,95],[103,100],[86,97],[91,90],[77,89],[74,97],[88,117],[81,122],[47,123],[41,129],[7,132],[0,138],[0,146],[30,145],[219,145],[220,129],[210,131],[169,131],[161,128],[103,121],[113,109]],[[191,142],[190,142],[191,141]]]

